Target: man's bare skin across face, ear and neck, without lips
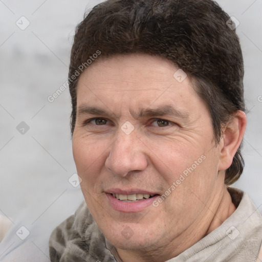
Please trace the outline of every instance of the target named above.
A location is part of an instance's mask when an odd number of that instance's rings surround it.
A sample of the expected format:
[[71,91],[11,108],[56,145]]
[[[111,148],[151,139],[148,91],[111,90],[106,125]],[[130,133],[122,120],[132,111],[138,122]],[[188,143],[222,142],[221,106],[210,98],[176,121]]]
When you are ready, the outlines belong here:
[[[160,57],[128,54],[97,59],[79,78],[73,155],[80,185],[94,220],[124,262],[175,257],[235,210],[224,178],[244,136],[246,115],[237,111],[216,145],[205,103],[189,77],[174,79],[177,70]],[[185,116],[139,117],[141,110],[166,105]],[[84,112],[86,106],[108,114]],[[102,120],[87,123],[93,118]],[[121,129],[126,121],[135,128],[129,135]],[[157,207],[121,212],[109,204],[105,192],[111,188],[164,194],[203,155]],[[133,235],[127,239],[123,230]]]

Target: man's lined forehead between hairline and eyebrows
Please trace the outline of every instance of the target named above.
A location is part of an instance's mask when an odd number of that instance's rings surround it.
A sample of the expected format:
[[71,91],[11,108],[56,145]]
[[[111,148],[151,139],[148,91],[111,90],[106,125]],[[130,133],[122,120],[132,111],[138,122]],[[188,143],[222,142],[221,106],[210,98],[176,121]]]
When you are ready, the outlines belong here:
[[[190,78],[171,61],[147,54],[99,58],[83,71],[77,84],[78,107],[82,103],[117,106],[124,102],[124,110],[127,105],[182,106],[188,101],[194,106],[202,103]],[[188,107],[190,110],[190,104]]]

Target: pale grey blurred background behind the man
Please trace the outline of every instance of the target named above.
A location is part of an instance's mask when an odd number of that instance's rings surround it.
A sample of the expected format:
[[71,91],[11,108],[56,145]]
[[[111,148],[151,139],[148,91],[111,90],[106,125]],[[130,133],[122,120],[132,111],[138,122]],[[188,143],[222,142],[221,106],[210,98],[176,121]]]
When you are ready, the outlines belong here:
[[[12,221],[0,243],[4,261],[50,261],[52,229],[83,200],[80,187],[68,181],[76,172],[69,91],[52,103],[47,98],[67,80],[75,26],[86,9],[100,2],[0,0],[0,214]],[[260,207],[262,1],[217,2],[240,22],[237,33],[245,62],[246,167],[234,186]],[[30,21],[25,30],[16,25],[21,16]],[[16,129],[21,121],[30,128],[24,135]],[[15,234],[21,226],[30,231],[24,241]]]

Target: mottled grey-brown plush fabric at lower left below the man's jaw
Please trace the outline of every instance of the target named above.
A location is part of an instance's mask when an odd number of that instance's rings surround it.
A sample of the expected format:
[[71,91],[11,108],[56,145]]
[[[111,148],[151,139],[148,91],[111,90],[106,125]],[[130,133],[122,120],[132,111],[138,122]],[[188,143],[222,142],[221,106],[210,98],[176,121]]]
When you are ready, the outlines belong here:
[[104,261],[114,261],[84,201],[51,233],[49,254],[51,262],[96,261],[105,257],[108,259]]

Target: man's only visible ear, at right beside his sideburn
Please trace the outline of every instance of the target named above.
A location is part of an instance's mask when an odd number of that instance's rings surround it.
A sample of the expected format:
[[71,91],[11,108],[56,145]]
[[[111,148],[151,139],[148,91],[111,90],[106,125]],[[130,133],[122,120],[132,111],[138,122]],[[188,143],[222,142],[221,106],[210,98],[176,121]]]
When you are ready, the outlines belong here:
[[238,110],[223,128],[223,136],[220,141],[219,170],[226,170],[231,166],[234,155],[243,140],[246,125],[246,114]]

